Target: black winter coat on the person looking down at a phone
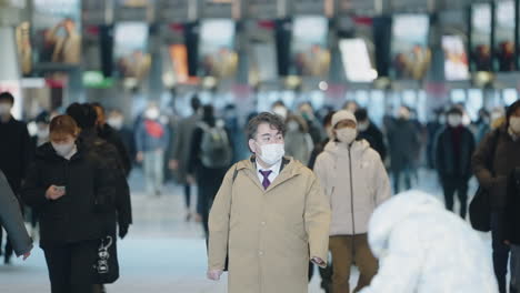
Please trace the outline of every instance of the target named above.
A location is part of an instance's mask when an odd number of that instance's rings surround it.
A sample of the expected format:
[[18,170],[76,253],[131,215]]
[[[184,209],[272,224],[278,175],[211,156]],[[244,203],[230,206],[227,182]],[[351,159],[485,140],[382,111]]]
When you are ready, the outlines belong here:
[[[70,161],[58,155],[50,143],[38,148],[22,188],[23,201],[40,213],[40,246],[63,245],[100,239],[114,233],[116,214],[99,209],[116,198],[116,176],[93,152],[78,142]],[[46,199],[50,185],[66,186],[66,195]],[[104,211],[104,212],[103,212]]]

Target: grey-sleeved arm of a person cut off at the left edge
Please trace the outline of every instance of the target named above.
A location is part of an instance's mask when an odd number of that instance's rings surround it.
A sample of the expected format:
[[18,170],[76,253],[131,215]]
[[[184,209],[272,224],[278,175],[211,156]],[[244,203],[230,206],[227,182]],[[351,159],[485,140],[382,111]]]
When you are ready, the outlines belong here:
[[6,229],[17,256],[27,260],[31,255],[32,240],[27,233],[20,204],[6,175],[0,170],[0,224]]

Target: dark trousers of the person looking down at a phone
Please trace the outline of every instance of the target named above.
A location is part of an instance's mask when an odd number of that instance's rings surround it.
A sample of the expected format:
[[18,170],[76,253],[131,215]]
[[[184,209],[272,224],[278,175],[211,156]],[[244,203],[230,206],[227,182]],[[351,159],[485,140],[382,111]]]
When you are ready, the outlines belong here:
[[98,241],[44,247],[51,293],[92,293]]

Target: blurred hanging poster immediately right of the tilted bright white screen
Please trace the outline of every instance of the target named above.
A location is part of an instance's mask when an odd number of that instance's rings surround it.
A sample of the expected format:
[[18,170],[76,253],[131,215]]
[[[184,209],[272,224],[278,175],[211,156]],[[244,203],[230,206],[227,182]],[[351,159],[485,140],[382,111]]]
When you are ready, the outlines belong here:
[[421,80],[430,67],[430,20],[426,14],[400,14],[392,20],[391,77]]

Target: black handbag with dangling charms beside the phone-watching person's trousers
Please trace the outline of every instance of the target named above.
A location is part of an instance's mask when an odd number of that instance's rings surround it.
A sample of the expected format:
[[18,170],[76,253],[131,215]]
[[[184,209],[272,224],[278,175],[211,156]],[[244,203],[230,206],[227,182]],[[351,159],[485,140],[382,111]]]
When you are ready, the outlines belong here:
[[116,234],[99,240],[98,255],[93,264],[94,284],[111,284],[119,279],[119,262]]

